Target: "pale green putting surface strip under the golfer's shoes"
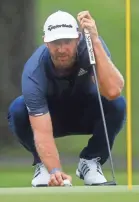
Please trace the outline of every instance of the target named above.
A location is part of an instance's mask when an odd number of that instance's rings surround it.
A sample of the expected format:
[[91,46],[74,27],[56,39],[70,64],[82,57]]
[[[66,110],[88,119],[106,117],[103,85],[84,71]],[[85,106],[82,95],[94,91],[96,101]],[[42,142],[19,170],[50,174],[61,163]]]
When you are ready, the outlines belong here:
[[[20,197],[20,199],[19,199]],[[139,186],[129,191],[126,186],[116,187],[55,187],[55,188],[6,188],[0,189],[2,202],[45,202],[45,201],[77,201],[107,202],[136,202],[139,197]]]

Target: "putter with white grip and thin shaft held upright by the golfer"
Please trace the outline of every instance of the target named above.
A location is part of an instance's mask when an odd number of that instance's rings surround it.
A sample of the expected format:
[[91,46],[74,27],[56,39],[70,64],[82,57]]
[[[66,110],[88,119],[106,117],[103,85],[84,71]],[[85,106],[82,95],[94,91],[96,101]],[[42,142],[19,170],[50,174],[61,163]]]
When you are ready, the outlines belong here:
[[95,82],[96,82],[96,87],[97,87],[97,93],[98,93],[98,100],[99,100],[99,104],[100,104],[100,110],[101,110],[101,115],[102,115],[102,120],[103,120],[103,125],[104,125],[104,132],[105,132],[105,136],[106,136],[108,152],[109,152],[109,160],[110,160],[111,171],[112,171],[112,181],[103,183],[101,185],[105,185],[105,186],[116,185],[113,160],[112,160],[110,143],[109,143],[109,138],[108,138],[107,126],[106,126],[106,120],[105,120],[105,116],[104,116],[104,110],[103,110],[103,105],[102,105],[102,100],[101,100],[99,85],[98,85],[98,79],[97,79],[97,74],[96,74],[96,61],[95,61],[95,56],[94,56],[92,40],[90,37],[90,33],[87,29],[84,29],[84,34],[85,34],[85,40],[86,40],[86,44],[87,44],[87,50],[88,50],[88,54],[89,54],[90,64],[92,65],[93,72],[94,72],[94,77],[95,77]]

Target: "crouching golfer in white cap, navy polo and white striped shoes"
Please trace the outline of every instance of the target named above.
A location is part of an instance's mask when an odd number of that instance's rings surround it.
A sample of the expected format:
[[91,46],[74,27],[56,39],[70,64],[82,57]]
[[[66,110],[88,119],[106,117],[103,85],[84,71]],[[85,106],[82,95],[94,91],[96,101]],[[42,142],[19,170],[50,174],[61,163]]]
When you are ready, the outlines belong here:
[[78,24],[91,35],[111,149],[125,122],[123,76],[112,63],[90,13],[80,12],[77,19],[79,23],[63,11],[47,18],[44,44],[26,62],[22,95],[9,107],[11,131],[34,158],[35,187],[63,186],[64,179],[71,181],[62,170],[55,138],[72,134],[93,135],[80,152],[76,175],[85,185],[107,182],[101,166],[109,157],[108,147],[86,42]]

